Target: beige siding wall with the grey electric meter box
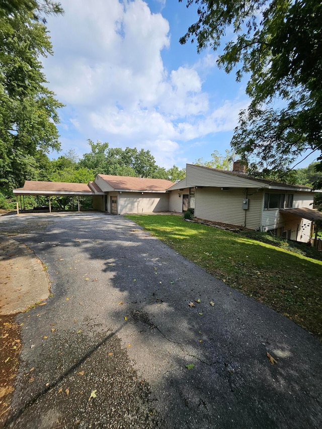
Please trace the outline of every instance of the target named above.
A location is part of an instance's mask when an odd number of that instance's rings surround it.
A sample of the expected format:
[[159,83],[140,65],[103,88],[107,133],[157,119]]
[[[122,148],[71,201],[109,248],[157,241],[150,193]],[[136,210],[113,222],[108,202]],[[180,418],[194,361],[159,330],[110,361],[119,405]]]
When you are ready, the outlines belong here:
[[196,190],[195,216],[232,225],[245,225],[250,229],[260,226],[262,197],[255,193],[248,196],[249,209],[241,208],[246,189],[198,188]]

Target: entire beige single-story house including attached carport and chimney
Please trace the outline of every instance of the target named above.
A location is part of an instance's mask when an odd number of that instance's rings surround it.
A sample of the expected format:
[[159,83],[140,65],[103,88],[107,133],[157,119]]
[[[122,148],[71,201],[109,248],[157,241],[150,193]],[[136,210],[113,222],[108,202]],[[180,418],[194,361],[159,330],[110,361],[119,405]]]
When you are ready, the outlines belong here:
[[[322,191],[252,178],[239,161],[232,171],[187,164],[185,179],[175,184],[99,174],[88,185],[26,181],[23,188],[14,190],[20,198],[47,195],[49,210],[52,195],[91,196],[94,209],[111,214],[182,213],[193,208],[201,219],[271,231],[303,242],[312,236],[313,222],[322,220],[322,213],[312,209],[316,192]],[[18,208],[17,199],[17,212]]]

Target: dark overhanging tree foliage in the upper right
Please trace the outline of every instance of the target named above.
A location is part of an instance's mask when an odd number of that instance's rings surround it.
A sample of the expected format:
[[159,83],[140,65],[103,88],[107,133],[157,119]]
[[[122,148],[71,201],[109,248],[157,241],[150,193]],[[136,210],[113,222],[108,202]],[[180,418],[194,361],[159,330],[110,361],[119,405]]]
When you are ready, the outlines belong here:
[[[182,1],[182,0],[179,0]],[[217,63],[236,79],[247,73],[247,110],[241,111],[231,145],[251,174],[284,175],[305,150],[322,153],[322,4],[317,0],[187,0],[198,21],[180,39],[225,44]],[[318,168],[322,170],[322,156]],[[317,185],[317,184],[316,184]],[[315,185],[315,186],[316,186]]]

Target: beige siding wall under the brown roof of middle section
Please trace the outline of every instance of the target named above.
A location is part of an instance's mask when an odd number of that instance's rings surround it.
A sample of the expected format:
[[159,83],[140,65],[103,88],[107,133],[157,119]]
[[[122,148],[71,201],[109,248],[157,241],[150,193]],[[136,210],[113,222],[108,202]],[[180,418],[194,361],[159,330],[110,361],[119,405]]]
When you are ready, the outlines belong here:
[[169,210],[168,194],[128,192],[118,195],[119,214],[150,213]]

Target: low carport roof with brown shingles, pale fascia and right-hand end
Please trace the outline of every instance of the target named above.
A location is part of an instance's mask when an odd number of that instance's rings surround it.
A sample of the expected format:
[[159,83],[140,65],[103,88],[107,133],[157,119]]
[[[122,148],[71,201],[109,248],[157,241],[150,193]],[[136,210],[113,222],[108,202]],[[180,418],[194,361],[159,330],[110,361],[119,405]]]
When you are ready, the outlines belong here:
[[65,182],[39,182],[26,180],[23,188],[13,190],[16,195],[78,195],[94,196],[104,195],[104,192],[93,182],[65,183]]

